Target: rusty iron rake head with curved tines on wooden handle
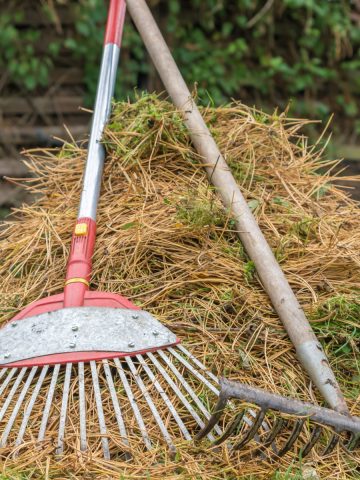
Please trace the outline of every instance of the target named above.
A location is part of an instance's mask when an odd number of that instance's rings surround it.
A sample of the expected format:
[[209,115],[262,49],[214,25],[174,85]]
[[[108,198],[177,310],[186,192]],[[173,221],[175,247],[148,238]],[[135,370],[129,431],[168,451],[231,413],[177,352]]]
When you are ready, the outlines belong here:
[[[228,407],[230,422],[222,435],[217,437],[214,445],[229,439],[231,450],[246,447],[252,440],[256,441],[255,451],[264,455],[267,447],[277,457],[285,455],[297,440],[303,440],[302,431],[306,423],[311,423],[311,433],[301,447],[301,456],[305,457],[317,444],[322,445],[321,455],[332,452],[339,443],[347,450],[354,450],[360,445],[360,418],[342,415],[324,407],[295,399],[285,398],[239,382],[220,379],[220,395],[214,413],[206,427],[197,434],[201,439],[207,435],[224,415]],[[248,410],[251,421],[245,415],[247,408],[235,409],[233,400],[254,404],[257,413]],[[236,410],[236,413],[231,413]],[[273,413],[279,415],[274,417]],[[285,418],[284,418],[285,416]],[[290,434],[286,427],[291,426]]]

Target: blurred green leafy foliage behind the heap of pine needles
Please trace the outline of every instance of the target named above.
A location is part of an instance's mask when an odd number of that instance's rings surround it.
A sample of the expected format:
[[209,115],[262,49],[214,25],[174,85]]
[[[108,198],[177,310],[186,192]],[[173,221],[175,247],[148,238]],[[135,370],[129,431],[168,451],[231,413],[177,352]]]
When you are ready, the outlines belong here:
[[[59,34],[39,53],[39,31],[17,26],[23,2],[0,17],[0,69],[33,91],[45,87],[59,56],[84,64],[88,95],[96,89],[106,7],[103,0],[43,2],[57,21],[64,4],[75,30]],[[358,0],[154,0],[150,1],[187,82],[214,104],[240,98],[257,106],[292,99],[296,115],[350,118],[360,133],[360,2]],[[4,4],[5,5],[5,4]],[[129,18],[117,95],[134,87],[161,89]]]

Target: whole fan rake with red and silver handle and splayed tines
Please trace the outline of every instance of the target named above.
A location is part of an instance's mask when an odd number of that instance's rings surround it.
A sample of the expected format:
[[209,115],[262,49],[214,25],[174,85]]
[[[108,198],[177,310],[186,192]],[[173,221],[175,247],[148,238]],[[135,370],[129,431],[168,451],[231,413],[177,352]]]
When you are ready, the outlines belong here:
[[[75,431],[81,451],[101,448],[105,459],[112,451],[129,458],[134,436],[151,449],[160,442],[160,433],[174,451],[174,438],[191,440],[193,432],[200,431],[198,438],[206,436],[217,444],[239,424],[237,417],[225,431],[219,425],[224,401],[240,398],[235,387],[230,395],[224,381],[219,383],[150,313],[120,295],[89,290],[105,157],[101,138],[110,114],[124,17],[125,2],[111,0],[64,292],[30,304],[0,329],[0,455],[9,446],[18,453],[28,443],[46,443],[53,436],[61,455],[69,431]],[[269,432],[263,412],[272,404],[266,393],[255,398],[254,392],[248,387],[248,397],[241,397],[255,399],[262,412],[241,416],[248,440],[260,427]],[[218,397],[212,416],[208,404]],[[276,405],[287,413],[281,402]],[[75,410],[76,425],[69,422]],[[291,412],[301,413],[295,407]],[[118,438],[110,438],[114,424]],[[266,444],[272,445],[274,438],[272,431]]]

